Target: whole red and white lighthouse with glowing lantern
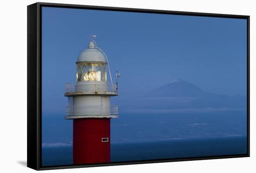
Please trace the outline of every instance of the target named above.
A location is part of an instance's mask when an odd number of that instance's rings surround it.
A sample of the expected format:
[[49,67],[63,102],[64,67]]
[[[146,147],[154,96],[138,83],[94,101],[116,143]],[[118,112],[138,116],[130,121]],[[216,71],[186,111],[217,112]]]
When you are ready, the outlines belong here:
[[76,82],[66,83],[66,119],[73,120],[74,164],[110,162],[110,118],[118,118],[118,107],[110,104],[110,97],[118,96],[117,82],[112,82],[107,55],[94,37],[75,62]]

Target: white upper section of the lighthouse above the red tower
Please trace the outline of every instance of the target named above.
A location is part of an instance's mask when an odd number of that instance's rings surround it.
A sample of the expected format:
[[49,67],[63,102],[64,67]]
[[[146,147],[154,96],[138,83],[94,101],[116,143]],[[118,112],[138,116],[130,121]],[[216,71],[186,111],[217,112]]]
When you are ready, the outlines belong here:
[[[91,39],[80,52],[76,63],[76,82],[66,84],[67,119],[116,118],[117,106],[110,105],[110,96],[118,96],[117,84],[108,81],[108,58]],[[109,77],[111,77],[109,70]]]

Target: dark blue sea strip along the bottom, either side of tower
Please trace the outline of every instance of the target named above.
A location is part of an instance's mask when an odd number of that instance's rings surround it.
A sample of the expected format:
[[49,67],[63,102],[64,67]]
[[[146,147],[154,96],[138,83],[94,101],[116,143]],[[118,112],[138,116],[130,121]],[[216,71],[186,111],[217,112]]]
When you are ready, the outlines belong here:
[[[111,143],[111,162],[180,159],[247,153],[246,136]],[[42,147],[42,166],[71,165],[72,145]]]

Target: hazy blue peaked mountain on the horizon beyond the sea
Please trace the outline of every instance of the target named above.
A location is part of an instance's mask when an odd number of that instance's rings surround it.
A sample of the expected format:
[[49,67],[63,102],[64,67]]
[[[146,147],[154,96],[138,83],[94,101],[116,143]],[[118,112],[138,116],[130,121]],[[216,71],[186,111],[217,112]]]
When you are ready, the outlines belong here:
[[246,96],[217,95],[178,78],[144,96],[120,103],[119,107],[122,110],[146,112],[245,109]]

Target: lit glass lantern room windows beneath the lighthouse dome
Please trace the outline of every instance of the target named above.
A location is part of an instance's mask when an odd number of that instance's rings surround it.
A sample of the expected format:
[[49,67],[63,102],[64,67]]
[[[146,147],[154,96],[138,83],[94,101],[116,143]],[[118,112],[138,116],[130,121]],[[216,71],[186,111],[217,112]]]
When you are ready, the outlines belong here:
[[107,64],[78,63],[76,81],[107,81]]

